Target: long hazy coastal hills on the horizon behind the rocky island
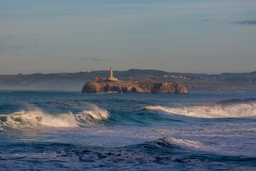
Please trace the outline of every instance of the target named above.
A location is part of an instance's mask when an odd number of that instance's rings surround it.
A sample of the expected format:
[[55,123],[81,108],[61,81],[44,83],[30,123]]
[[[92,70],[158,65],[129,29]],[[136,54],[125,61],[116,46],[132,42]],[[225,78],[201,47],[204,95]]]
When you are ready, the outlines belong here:
[[[0,89],[6,90],[78,90],[95,77],[107,78],[110,71],[79,73],[33,73],[0,75]],[[150,79],[182,83],[191,91],[252,91],[256,90],[256,71],[251,73],[169,73],[157,70],[130,69],[114,71],[119,81]]]

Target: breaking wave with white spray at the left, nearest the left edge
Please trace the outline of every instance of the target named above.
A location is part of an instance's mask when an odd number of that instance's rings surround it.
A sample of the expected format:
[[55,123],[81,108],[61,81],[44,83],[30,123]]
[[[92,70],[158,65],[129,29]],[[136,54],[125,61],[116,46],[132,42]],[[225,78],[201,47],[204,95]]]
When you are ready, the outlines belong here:
[[0,115],[0,131],[6,130],[5,128],[18,130],[23,128],[40,129],[42,127],[75,128],[85,123],[95,123],[99,120],[106,120],[107,118],[110,118],[107,110],[98,108],[97,106],[93,106],[92,110],[83,110],[76,114],[69,112],[57,115],[51,115],[36,108],[28,111],[21,110],[20,112],[9,115]]

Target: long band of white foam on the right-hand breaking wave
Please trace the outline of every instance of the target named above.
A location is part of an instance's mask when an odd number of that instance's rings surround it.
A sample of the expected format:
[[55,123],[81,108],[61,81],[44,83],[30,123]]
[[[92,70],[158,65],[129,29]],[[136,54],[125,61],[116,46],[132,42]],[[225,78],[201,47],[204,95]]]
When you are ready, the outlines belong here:
[[147,106],[146,110],[162,110],[166,113],[186,115],[196,118],[242,118],[256,116],[256,103],[240,103],[235,105],[191,106],[168,108],[160,105]]

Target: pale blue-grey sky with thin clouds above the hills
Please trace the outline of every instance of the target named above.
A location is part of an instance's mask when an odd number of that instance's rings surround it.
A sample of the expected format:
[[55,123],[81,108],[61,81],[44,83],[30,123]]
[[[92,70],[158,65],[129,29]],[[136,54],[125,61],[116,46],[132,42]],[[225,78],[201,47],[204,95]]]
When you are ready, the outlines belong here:
[[256,71],[255,0],[0,0],[0,75]]

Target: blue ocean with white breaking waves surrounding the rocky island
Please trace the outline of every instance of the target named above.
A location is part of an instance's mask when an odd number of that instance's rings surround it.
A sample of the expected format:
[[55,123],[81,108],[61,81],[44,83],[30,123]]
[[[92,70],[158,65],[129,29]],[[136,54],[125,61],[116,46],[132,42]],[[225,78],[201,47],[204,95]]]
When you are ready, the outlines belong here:
[[255,97],[0,90],[0,170],[256,170]]

